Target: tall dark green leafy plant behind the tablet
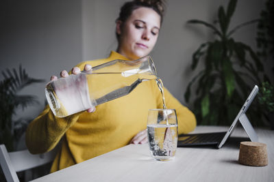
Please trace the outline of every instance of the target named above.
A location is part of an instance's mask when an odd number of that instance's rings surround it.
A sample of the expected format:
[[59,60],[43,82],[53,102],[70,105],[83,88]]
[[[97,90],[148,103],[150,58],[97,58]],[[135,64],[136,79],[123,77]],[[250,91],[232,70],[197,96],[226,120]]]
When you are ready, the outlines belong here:
[[[226,10],[223,6],[219,7],[216,25],[203,20],[188,20],[190,24],[208,27],[215,35],[214,40],[201,44],[193,53],[192,70],[199,62],[203,62],[204,69],[192,78],[184,95],[189,102],[191,89],[196,84],[194,112],[201,125],[230,125],[251,87],[260,85],[264,67],[258,55],[250,46],[232,37],[241,27],[258,20],[229,29],[236,4],[236,0],[231,0]],[[247,85],[247,80],[252,82],[251,87]]]

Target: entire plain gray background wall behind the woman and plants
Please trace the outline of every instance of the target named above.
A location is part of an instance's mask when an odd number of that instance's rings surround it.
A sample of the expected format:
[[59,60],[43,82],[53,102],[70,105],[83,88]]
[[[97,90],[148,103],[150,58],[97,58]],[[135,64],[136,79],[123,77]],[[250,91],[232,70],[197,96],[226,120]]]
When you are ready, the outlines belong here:
[[[49,80],[51,75],[70,70],[79,61],[107,57],[110,50],[116,50],[114,21],[124,2],[4,1],[0,7],[0,71],[7,67],[18,67],[21,63],[29,76]],[[168,2],[158,44],[151,55],[164,86],[183,104],[186,86],[199,71],[190,72],[192,52],[202,42],[212,39],[208,29],[186,25],[186,21],[198,18],[212,22],[219,5],[227,5],[227,1]],[[232,27],[258,18],[262,7],[264,1],[238,1]],[[255,37],[256,25],[245,27],[235,34],[236,40],[253,48],[256,48]],[[23,116],[36,117],[42,110],[44,88],[45,83],[42,83],[22,92],[35,94],[40,100],[39,106],[29,107],[26,112],[19,110]]]

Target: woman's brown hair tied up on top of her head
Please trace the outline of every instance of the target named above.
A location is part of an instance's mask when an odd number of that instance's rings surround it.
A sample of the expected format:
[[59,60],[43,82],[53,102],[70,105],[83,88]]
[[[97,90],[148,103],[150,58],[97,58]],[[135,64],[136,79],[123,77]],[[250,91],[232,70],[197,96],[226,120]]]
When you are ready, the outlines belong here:
[[[119,17],[117,21],[121,21],[121,28],[123,23],[132,15],[132,12],[139,7],[149,7],[160,15],[160,25],[162,25],[162,19],[164,16],[165,2],[164,0],[134,0],[126,2],[120,10]],[[116,37],[119,40],[119,35],[116,33]]]

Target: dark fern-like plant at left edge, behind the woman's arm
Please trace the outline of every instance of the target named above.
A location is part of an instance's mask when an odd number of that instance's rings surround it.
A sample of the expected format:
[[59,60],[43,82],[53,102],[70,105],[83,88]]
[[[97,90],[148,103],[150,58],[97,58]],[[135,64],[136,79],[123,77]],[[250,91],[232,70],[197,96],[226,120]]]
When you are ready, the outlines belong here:
[[12,117],[16,115],[16,109],[20,106],[25,109],[30,104],[38,103],[33,95],[19,95],[18,92],[45,80],[29,77],[21,65],[18,72],[7,69],[2,74],[4,79],[0,81],[0,143],[5,144],[8,151],[13,151],[16,141],[25,132],[29,122],[23,118],[14,120]]

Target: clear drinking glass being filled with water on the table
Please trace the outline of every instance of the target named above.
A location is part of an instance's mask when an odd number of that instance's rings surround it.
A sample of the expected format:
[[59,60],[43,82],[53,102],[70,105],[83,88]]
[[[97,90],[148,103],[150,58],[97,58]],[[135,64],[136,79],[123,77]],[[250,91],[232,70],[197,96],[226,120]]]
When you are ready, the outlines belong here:
[[175,109],[150,109],[147,117],[147,137],[151,156],[155,160],[172,160],[178,140]]

